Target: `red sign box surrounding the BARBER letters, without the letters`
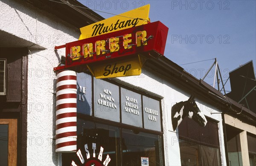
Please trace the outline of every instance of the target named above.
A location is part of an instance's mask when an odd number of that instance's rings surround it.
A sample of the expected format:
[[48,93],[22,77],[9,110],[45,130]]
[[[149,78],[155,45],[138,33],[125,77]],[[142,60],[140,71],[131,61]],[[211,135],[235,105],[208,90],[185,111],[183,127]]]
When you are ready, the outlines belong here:
[[[103,27],[102,27],[103,28]],[[140,43],[137,44],[137,36],[140,34],[140,32],[144,32],[144,41],[139,41]],[[131,39],[131,42],[128,44],[130,45],[128,49],[125,49],[124,47],[124,37],[125,35],[130,34],[130,36],[127,39]],[[54,70],[63,70],[65,68],[72,68],[73,70],[76,69],[77,66],[80,65],[86,65],[96,62],[102,62],[108,59],[116,59],[125,56],[131,56],[134,54],[143,54],[145,56],[163,56],[165,45],[166,45],[166,39],[168,34],[168,28],[163,25],[160,21],[154,22],[154,23],[148,23],[145,25],[140,25],[133,28],[128,28],[116,32],[111,32],[108,34],[103,34],[96,37],[90,37],[87,39],[78,40],[75,42],[69,42],[65,45],[66,47],[66,62],[64,66],[59,66],[54,68]],[[110,38],[113,39],[118,38],[118,45],[119,50],[115,52],[111,52],[109,48],[108,42],[110,42]],[[99,52],[99,55],[96,55],[96,42],[99,41],[105,41],[105,50],[101,50]],[[114,41],[114,40],[113,40]],[[112,42],[113,42],[112,41]],[[114,41],[115,42],[115,41]],[[89,55],[87,57],[84,56],[84,45],[86,43],[90,43],[90,45],[93,45],[93,53],[92,55]],[[95,47],[94,47],[95,45]],[[140,45],[140,46],[139,46]],[[89,45],[88,45],[89,46]],[[80,56],[72,56],[74,55],[71,51],[72,48],[80,48],[80,51],[78,51]],[[75,49],[76,49],[75,48]],[[103,53],[104,52],[104,53]],[[91,56],[91,57],[90,57]],[[79,58],[77,58],[79,57]],[[76,60],[74,60],[76,59]]]

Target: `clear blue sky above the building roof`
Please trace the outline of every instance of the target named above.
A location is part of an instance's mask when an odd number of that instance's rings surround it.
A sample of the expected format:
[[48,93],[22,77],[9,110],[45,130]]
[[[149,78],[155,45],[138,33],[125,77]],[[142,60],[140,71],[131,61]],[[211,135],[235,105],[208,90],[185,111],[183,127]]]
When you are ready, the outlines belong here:
[[[79,0],[91,9],[121,14],[150,4],[151,22],[169,28],[165,56],[196,78],[217,58],[224,80],[250,60],[256,68],[256,0]],[[104,18],[113,17],[96,11]],[[213,83],[212,69],[205,81]],[[224,81],[225,82],[225,81]],[[217,88],[217,85],[215,85]],[[225,86],[230,90],[229,81]]]

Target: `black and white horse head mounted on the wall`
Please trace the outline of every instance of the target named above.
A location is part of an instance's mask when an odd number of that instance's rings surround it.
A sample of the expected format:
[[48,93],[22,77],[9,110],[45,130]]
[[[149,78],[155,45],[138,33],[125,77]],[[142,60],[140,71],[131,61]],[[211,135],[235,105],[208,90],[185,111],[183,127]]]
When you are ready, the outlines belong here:
[[187,101],[180,101],[172,106],[173,131],[175,131],[186,116],[196,121],[202,127],[205,127],[207,124],[207,120],[201,110],[199,110],[194,98],[194,95],[191,95]]

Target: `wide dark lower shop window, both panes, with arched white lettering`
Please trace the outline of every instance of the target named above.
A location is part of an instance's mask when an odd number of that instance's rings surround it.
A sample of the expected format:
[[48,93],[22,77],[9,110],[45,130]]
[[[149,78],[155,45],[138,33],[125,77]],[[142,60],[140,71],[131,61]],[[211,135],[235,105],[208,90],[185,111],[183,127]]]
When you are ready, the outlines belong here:
[[[82,165],[100,164],[110,158],[108,166],[163,165],[162,136],[123,129],[106,124],[77,120],[77,149],[84,158]],[[102,161],[99,161],[103,148]],[[94,150],[95,149],[95,150]],[[95,151],[95,157],[93,153]],[[87,159],[87,156],[90,158]],[[109,156],[109,157],[108,157]],[[72,161],[81,163],[76,153],[62,154],[62,165],[70,166]],[[80,164],[81,165],[81,164]]]

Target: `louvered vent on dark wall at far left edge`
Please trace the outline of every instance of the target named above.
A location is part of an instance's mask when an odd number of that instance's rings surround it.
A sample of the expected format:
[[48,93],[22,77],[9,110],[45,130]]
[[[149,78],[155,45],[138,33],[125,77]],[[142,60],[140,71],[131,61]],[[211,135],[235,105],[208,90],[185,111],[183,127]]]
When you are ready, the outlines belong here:
[[0,95],[6,95],[6,59],[0,59]]

